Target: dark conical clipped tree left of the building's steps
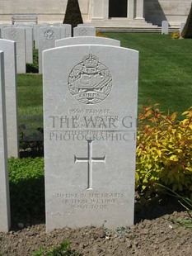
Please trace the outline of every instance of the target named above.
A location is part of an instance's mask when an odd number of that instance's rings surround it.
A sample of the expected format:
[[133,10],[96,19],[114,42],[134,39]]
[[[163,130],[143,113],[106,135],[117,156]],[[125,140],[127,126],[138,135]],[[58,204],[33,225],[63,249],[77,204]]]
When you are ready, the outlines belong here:
[[77,24],[82,24],[82,14],[78,4],[78,0],[68,0],[65,17],[63,20],[64,24],[71,24],[72,28]]

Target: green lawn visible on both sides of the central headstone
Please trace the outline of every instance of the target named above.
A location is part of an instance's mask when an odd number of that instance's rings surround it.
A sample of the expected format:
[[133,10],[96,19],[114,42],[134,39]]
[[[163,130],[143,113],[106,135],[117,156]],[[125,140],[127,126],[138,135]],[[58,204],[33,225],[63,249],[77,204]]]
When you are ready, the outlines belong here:
[[[139,51],[138,111],[159,103],[162,111],[180,116],[192,105],[192,40],[172,40],[159,33],[105,34]],[[42,76],[18,74],[17,83],[20,124],[43,126]]]

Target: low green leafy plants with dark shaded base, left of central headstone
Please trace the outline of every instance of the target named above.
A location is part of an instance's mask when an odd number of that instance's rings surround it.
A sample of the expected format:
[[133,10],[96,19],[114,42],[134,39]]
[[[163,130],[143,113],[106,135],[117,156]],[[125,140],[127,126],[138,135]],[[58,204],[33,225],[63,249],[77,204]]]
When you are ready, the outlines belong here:
[[44,218],[44,159],[8,159],[14,222]]

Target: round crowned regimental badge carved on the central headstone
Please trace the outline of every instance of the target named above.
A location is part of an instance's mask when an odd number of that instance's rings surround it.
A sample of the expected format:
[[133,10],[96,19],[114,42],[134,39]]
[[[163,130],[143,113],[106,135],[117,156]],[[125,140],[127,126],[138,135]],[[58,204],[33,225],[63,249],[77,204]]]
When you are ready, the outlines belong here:
[[87,55],[69,73],[68,88],[78,102],[102,102],[112,88],[110,70],[95,55]]

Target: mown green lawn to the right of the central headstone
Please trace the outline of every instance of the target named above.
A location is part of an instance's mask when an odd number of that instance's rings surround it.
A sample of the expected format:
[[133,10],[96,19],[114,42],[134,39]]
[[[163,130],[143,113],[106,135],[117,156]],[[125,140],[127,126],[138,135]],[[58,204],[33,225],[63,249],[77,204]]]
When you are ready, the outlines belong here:
[[105,33],[139,51],[138,108],[159,103],[179,114],[192,105],[192,40],[157,33]]

